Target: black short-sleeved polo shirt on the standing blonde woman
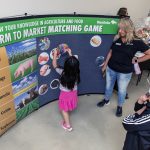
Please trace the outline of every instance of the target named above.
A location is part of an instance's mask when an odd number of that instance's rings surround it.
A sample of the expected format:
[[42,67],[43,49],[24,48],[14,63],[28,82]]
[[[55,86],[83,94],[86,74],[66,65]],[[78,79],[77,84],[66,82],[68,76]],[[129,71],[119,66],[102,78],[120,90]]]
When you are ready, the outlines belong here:
[[145,52],[149,47],[142,40],[133,40],[131,43],[123,43],[119,38],[114,41],[111,50],[112,56],[108,62],[108,66],[120,73],[133,72],[132,58],[137,51]]

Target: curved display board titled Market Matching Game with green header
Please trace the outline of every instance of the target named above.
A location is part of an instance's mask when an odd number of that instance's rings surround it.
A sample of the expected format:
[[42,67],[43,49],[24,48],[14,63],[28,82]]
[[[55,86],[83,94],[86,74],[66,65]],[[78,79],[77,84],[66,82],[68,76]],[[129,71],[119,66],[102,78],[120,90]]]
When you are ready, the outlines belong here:
[[[0,135],[59,97],[53,51],[69,47],[80,61],[79,95],[104,93],[101,66],[118,19],[97,15],[42,15],[0,20]],[[66,53],[60,51],[63,66]]]

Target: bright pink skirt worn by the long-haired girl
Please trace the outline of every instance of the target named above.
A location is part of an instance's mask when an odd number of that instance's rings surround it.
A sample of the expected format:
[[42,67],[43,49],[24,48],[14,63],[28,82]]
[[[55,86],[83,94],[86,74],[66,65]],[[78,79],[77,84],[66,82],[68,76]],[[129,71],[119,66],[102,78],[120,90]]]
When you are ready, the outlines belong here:
[[61,91],[59,96],[59,109],[63,111],[72,111],[77,107],[78,96],[77,91],[65,92]]

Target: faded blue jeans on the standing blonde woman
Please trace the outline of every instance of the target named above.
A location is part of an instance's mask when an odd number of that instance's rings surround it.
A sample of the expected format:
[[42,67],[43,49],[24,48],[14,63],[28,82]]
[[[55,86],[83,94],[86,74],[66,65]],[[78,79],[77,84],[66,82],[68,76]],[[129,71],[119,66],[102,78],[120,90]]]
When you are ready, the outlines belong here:
[[106,69],[105,100],[110,100],[115,81],[118,84],[118,106],[122,106],[127,93],[127,86],[131,80],[132,73],[119,73],[109,67]]

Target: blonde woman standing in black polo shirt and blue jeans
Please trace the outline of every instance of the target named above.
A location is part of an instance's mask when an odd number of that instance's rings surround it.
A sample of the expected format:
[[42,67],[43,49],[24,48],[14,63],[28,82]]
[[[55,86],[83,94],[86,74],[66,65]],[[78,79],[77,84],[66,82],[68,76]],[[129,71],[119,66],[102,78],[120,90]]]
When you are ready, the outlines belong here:
[[142,62],[150,59],[150,49],[141,40],[134,37],[134,26],[129,18],[122,18],[119,22],[119,38],[113,42],[107,55],[102,71],[106,70],[106,88],[104,99],[97,104],[103,107],[109,104],[115,81],[118,84],[118,106],[116,116],[122,116],[122,106],[126,96],[127,86],[131,80],[133,72],[133,59],[137,51],[141,51],[145,56],[137,61]]

